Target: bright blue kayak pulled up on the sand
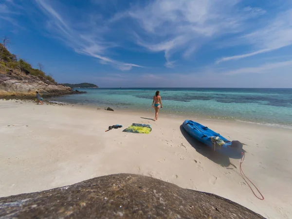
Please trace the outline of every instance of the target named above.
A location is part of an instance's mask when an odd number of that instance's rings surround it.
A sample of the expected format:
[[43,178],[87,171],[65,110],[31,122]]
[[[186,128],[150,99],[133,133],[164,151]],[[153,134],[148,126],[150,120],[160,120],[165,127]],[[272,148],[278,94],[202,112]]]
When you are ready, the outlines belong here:
[[230,158],[240,159],[242,156],[242,144],[238,141],[229,141],[212,129],[191,120],[183,122],[186,132],[199,142],[211,147],[214,151],[224,154]]

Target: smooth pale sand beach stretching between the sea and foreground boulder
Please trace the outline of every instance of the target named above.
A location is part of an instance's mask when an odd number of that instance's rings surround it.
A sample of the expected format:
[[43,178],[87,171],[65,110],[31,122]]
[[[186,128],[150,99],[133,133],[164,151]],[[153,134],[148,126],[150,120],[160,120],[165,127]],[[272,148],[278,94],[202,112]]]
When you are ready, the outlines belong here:
[[[264,195],[261,201],[241,178],[238,160],[214,155],[184,133],[183,121],[195,118],[163,111],[158,121],[153,117],[154,112],[0,100],[0,197],[135,173],[214,193],[266,218],[292,218],[292,129],[196,119],[246,144],[243,171]],[[150,124],[152,132],[122,132],[132,123]],[[116,124],[123,128],[105,132]]]

